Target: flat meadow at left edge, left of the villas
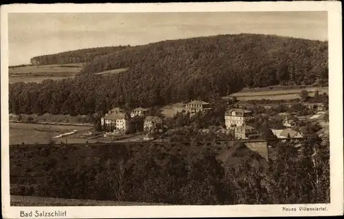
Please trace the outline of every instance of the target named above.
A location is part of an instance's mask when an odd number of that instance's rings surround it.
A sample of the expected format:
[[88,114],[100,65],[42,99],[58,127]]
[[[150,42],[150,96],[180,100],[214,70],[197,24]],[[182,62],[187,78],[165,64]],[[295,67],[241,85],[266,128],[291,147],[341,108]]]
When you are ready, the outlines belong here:
[[[62,133],[72,132],[74,129],[78,130],[76,134],[65,136],[62,138],[52,138]],[[92,127],[82,125],[43,125],[35,123],[10,123],[10,145],[17,144],[47,144],[50,139],[61,143],[67,140],[67,143],[85,143],[86,139],[77,138],[84,132],[88,132]],[[96,142],[96,140],[88,140],[89,143]]]

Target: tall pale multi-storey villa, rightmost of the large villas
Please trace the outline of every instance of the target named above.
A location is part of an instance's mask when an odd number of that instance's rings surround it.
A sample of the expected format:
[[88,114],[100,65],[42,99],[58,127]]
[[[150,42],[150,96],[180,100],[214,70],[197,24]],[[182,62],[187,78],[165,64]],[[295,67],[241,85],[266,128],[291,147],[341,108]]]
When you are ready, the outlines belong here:
[[244,109],[232,109],[224,114],[224,121],[227,129],[245,125],[252,118],[252,112]]

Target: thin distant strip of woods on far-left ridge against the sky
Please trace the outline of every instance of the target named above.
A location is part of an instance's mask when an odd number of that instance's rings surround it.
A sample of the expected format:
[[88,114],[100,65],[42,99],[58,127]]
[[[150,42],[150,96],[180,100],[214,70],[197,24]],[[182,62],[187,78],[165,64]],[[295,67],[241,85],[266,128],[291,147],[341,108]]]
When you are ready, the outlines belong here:
[[102,48],[89,48],[82,50],[73,50],[68,52],[59,52],[56,54],[47,54],[43,56],[34,56],[30,59],[31,65],[57,65],[69,63],[86,63],[92,61],[94,57],[116,52],[128,48],[127,46],[111,46]]

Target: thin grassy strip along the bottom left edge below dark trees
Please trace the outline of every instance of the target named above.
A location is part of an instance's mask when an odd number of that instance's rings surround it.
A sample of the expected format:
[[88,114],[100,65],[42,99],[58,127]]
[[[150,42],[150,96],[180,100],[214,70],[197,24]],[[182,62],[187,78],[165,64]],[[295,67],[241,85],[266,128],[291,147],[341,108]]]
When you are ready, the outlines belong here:
[[37,196],[11,196],[11,206],[133,206],[166,205],[160,203],[114,202],[87,199],[48,198]]

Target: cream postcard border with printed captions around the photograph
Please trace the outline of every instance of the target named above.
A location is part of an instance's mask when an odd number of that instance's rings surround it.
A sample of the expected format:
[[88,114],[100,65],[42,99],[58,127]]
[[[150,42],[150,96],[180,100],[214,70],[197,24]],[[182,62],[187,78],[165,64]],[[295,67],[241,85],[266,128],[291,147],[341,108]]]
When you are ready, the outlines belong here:
[[[330,93],[330,183],[328,205],[215,205],[140,207],[10,207],[8,130],[9,12],[272,12],[327,11]],[[14,4],[1,6],[1,199],[3,218],[20,218],[19,211],[67,211],[67,218],[180,218],[230,216],[343,215],[343,66],[340,1],[133,3],[133,4]],[[282,207],[327,207],[327,211],[282,211]]]

